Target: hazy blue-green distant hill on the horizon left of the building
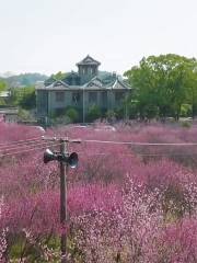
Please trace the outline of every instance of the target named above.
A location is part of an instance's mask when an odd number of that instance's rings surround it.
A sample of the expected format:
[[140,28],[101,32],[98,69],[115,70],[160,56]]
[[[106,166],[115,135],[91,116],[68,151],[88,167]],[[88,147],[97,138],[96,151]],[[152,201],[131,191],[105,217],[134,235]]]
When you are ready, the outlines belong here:
[[36,81],[44,81],[48,77],[40,73],[22,73],[16,76],[11,76],[8,78],[0,78],[5,81],[9,87],[24,87],[24,85],[34,85]]

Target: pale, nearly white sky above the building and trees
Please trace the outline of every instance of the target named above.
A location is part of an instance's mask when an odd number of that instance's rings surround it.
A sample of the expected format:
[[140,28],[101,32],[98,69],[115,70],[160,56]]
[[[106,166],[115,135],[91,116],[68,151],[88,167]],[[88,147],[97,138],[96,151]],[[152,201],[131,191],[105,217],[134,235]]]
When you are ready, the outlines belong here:
[[0,72],[123,73],[142,57],[197,57],[197,0],[0,0]]

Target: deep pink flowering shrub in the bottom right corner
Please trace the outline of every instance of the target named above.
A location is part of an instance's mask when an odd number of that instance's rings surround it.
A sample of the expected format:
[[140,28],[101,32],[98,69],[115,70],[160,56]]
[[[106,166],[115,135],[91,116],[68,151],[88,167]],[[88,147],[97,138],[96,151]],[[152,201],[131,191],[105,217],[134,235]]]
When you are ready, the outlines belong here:
[[197,219],[166,226],[158,238],[158,251],[151,262],[195,263],[197,261]]

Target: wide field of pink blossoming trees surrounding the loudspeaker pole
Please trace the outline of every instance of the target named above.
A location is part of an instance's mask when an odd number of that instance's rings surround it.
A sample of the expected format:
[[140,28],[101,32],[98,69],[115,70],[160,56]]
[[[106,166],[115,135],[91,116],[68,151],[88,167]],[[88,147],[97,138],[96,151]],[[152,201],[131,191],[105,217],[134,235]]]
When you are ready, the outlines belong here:
[[69,146],[79,165],[67,175],[67,262],[197,262],[197,126],[95,124],[43,133],[4,123],[0,262],[60,262],[59,168],[43,162],[45,149],[59,145],[43,135],[82,140]]

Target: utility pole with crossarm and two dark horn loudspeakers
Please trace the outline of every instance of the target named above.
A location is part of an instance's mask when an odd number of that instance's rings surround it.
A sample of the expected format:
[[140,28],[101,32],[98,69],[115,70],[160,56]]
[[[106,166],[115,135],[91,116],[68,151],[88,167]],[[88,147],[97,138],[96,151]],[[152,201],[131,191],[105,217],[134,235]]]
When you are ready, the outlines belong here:
[[53,140],[60,142],[60,152],[53,152],[49,149],[44,153],[44,162],[57,160],[59,161],[60,169],[60,226],[61,226],[61,236],[60,236],[60,250],[61,250],[61,263],[67,263],[67,222],[68,222],[68,213],[67,213],[67,174],[69,165],[76,168],[78,164],[78,155],[68,152],[68,144],[74,142],[80,144],[80,139],[69,139],[69,138],[45,138],[45,140]]

